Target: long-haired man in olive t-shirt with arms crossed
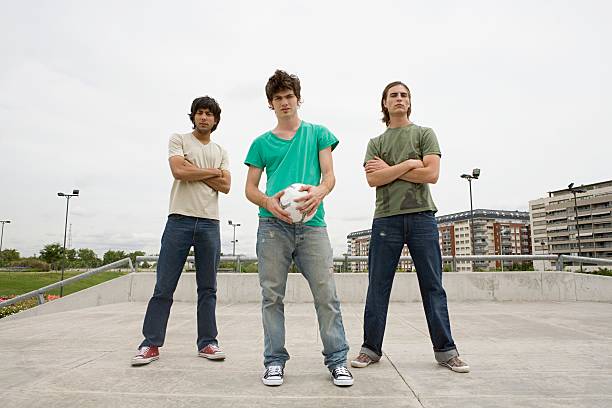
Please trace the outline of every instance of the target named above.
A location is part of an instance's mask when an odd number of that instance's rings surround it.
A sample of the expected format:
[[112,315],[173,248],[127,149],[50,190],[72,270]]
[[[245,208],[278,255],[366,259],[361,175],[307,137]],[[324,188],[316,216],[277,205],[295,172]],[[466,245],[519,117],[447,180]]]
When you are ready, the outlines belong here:
[[438,181],[440,147],[433,130],[410,121],[410,90],[392,82],[381,99],[387,130],[368,143],[364,166],[376,187],[376,211],[368,253],[369,284],[363,322],[363,344],[353,367],[380,360],[389,296],[404,244],[416,267],[423,308],[438,363],[467,373],[451,335],[446,292],[442,287],[442,254],[437,211],[429,184]]

